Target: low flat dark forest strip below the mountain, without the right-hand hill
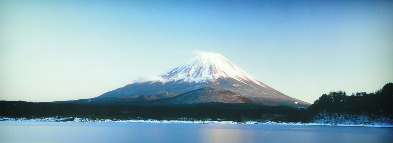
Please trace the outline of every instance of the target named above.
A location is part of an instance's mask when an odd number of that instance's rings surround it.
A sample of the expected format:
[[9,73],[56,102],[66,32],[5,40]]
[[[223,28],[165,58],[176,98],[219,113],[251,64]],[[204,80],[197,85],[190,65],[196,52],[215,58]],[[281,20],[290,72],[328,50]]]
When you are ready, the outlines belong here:
[[92,119],[225,119],[243,122],[261,119],[297,122],[302,120],[305,109],[287,106],[263,106],[256,104],[206,103],[191,105],[91,105],[72,103],[33,103],[25,101],[0,101],[2,117],[88,117]]

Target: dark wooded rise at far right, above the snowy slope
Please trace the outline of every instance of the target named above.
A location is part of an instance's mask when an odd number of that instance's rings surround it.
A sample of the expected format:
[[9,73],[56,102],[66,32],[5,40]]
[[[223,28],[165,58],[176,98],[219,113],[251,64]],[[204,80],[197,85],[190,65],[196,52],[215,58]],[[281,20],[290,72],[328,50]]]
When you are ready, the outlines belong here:
[[319,111],[346,114],[387,115],[393,114],[393,83],[386,84],[374,93],[352,93],[346,95],[343,91],[323,94],[312,104],[307,112],[314,115]]

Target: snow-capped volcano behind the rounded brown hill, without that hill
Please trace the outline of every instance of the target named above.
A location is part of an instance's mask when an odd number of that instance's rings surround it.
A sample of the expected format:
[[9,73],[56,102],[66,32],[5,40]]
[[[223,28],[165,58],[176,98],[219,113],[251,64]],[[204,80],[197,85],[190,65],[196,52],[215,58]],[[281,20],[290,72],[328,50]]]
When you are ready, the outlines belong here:
[[[174,98],[203,87],[229,90],[255,103],[269,106],[286,105],[308,107],[309,103],[287,96],[251,77],[228,59],[215,53],[203,53],[178,67],[160,75],[161,80],[138,82],[96,98],[120,97],[131,95]],[[217,101],[218,102],[218,101]]]

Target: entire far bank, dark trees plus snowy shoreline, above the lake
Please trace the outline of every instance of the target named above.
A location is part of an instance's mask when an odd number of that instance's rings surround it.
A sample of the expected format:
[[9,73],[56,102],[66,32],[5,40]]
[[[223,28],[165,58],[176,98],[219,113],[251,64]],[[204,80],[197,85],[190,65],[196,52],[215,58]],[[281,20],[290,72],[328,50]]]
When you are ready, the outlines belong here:
[[[322,95],[309,108],[267,106],[253,102],[199,104],[74,104],[0,101],[1,120],[35,121],[199,121],[391,126],[393,84],[375,93]],[[54,117],[54,118],[51,118]],[[51,118],[51,119],[48,119]]]

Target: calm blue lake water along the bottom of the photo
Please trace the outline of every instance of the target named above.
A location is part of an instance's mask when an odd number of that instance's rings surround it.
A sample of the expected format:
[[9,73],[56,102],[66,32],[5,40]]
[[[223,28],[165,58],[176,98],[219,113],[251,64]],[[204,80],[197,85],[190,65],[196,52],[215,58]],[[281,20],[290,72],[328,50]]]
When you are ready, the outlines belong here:
[[392,143],[393,128],[0,121],[0,143]]

